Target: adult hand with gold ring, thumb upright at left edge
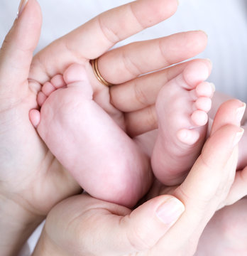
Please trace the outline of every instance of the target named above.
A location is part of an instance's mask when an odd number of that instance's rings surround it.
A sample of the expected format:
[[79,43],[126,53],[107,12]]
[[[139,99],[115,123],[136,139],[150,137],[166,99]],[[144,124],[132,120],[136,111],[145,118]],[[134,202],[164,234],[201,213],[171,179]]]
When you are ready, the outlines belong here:
[[[58,201],[80,191],[29,122],[28,112],[38,107],[36,96],[40,84],[62,73],[71,63],[84,63],[94,80],[95,97],[107,112],[123,123],[124,114],[110,104],[109,90],[94,78],[89,59],[99,57],[116,41],[163,21],[177,8],[175,0],[131,2],[101,14],[55,41],[36,55],[31,65],[33,50],[40,36],[40,7],[36,0],[22,3],[27,4],[25,8],[22,6],[21,15],[6,36],[0,52],[0,226],[4,232],[1,232],[1,248],[4,248],[1,253],[5,255],[14,254],[16,247],[26,240]],[[204,48],[206,41],[204,33],[189,32],[131,44],[103,55],[99,59],[99,70],[109,82],[126,82],[139,73],[192,57]],[[138,63],[144,69],[133,73],[139,67],[133,61],[138,57],[136,54],[146,52],[147,48],[150,52],[150,47],[155,50],[154,55],[146,55],[148,58],[139,56]],[[136,53],[136,48],[142,50]],[[105,70],[101,70],[103,66]],[[169,75],[175,76],[182,66],[184,64],[170,69]],[[121,72],[121,77],[116,73],[113,75],[112,67]],[[31,75],[28,75],[30,70]],[[167,71],[164,74],[169,78]]]

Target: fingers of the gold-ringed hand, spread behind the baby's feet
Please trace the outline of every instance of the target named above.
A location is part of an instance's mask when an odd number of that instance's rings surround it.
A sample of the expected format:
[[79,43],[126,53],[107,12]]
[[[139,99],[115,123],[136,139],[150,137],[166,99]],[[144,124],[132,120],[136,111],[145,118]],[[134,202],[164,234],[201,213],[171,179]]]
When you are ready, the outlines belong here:
[[[158,91],[187,64],[139,76],[192,58],[204,50],[207,36],[202,31],[190,31],[109,49],[134,33],[164,21],[176,9],[176,0],[141,0],[106,11],[35,55],[29,76],[33,80],[31,87],[37,92],[40,85],[64,73],[70,64],[80,63],[87,68],[94,100],[131,137],[155,129],[154,103]],[[114,84],[111,88],[95,78],[89,63],[95,58],[99,58],[99,73]]]

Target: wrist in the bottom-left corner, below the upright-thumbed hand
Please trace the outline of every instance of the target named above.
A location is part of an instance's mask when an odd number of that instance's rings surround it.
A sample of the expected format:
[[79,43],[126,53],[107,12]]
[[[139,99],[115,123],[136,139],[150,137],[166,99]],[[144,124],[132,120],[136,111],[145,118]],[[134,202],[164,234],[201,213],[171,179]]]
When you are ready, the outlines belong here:
[[43,218],[29,212],[18,202],[0,195],[1,255],[17,255]]

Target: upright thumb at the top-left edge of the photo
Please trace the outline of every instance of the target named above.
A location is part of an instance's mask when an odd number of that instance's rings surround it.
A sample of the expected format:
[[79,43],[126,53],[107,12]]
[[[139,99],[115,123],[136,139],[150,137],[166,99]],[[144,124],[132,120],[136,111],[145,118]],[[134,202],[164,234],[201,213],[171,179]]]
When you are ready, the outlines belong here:
[[[33,50],[40,37],[41,11],[36,0],[29,0],[6,36],[0,52],[0,90],[15,92],[28,88],[27,78]],[[19,92],[19,91],[16,91]],[[19,96],[19,95],[18,95]]]

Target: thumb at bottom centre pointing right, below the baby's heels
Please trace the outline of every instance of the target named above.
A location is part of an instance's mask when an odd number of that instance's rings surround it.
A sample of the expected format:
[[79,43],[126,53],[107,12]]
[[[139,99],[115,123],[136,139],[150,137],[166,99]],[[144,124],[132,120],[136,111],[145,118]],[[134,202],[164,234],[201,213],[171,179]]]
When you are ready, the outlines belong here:
[[[100,255],[132,255],[151,250],[184,210],[185,207],[177,198],[165,195],[143,203],[124,217],[111,215],[109,219],[109,215],[101,215],[97,225],[100,228],[93,235],[101,238]],[[92,236],[92,233],[84,233],[83,237],[89,235]]]

